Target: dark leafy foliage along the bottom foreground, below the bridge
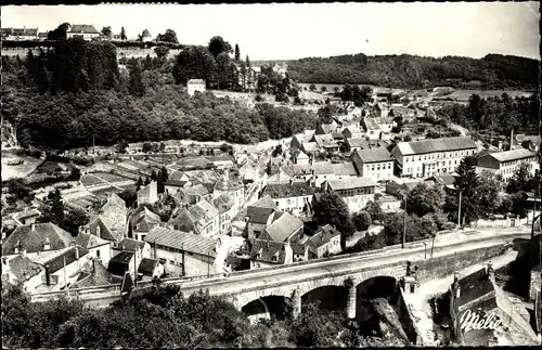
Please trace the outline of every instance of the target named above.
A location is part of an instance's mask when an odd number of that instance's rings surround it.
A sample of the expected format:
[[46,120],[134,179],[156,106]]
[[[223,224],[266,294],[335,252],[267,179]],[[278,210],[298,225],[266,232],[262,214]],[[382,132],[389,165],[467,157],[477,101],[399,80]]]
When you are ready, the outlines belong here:
[[[176,286],[156,286],[105,309],[78,300],[33,303],[21,287],[2,283],[2,345],[5,348],[258,348],[393,346],[365,336],[344,312],[304,307],[292,317],[256,324],[233,304],[206,293],[184,298]],[[398,340],[399,341],[399,340]]]

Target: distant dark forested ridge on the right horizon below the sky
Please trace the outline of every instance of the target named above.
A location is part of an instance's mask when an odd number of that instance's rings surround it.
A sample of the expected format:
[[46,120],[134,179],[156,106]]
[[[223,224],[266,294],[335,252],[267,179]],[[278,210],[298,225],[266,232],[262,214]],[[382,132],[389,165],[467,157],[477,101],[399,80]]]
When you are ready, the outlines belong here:
[[299,82],[357,83],[393,88],[465,87],[479,81],[487,89],[537,89],[539,61],[488,54],[483,59],[415,55],[366,56],[362,53],[288,62],[288,75]]

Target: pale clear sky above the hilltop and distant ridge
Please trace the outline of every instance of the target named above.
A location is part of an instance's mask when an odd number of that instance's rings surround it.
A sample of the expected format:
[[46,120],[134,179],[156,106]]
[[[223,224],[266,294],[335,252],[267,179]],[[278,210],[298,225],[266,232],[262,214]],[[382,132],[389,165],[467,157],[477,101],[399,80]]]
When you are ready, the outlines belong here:
[[179,42],[207,44],[221,36],[242,56],[295,60],[364,53],[488,53],[540,60],[539,2],[100,4],[2,7],[2,27],[52,30],[61,23],[124,26],[129,38],[170,28]]

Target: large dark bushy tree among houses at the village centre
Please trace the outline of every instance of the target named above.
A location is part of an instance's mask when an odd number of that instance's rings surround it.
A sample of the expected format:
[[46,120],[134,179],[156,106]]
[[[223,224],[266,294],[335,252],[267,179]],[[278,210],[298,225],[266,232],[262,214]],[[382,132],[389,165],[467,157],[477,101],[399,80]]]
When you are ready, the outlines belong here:
[[317,225],[334,225],[345,238],[356,231],[348,206],[334,192],[324,193],[314,199],[312,220]]

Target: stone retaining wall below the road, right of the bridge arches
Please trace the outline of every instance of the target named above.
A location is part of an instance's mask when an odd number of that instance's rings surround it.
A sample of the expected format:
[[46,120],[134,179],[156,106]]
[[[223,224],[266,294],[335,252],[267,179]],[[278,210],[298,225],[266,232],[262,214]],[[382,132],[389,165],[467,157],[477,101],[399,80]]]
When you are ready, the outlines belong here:
[[501,256],[504,252],[506,252],[506,247],[504,244],[501,244],[468,251],[460,251],[444,257],[420,260],[413,262],[413,264],[418,267],[417,281],[424,283],[426,281],[451,275],[454,271],[463,270],[481,261]]

